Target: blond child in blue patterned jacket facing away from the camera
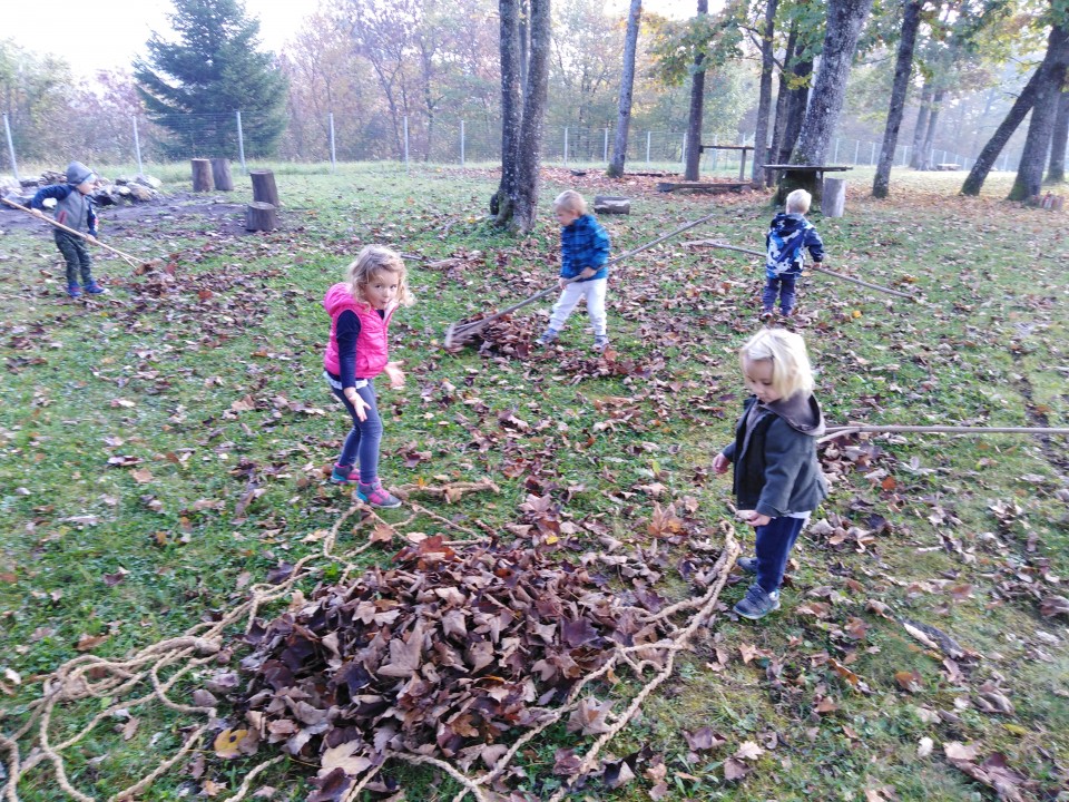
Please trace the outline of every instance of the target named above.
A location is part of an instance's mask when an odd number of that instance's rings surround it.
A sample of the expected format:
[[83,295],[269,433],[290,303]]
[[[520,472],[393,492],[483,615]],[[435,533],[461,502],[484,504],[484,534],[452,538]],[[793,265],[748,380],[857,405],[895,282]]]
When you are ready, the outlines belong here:
[[805,189],[795,189],[787,195],[782,213],[777,214],[765,237],[765,291],[762,295],[761,320],[773,317],[776,295],[779,295],[779,312],[784,317],[794,312],[794,284],[805,266],[803,248],[810,250],[813,263],[824,261],[824,243],[813,224],[805,218],[813,197]]

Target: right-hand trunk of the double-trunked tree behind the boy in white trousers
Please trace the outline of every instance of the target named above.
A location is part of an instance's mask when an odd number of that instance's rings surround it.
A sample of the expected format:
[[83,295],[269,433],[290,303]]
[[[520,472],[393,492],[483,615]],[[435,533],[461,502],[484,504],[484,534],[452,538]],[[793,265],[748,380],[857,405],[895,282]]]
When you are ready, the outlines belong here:
[[531,0],[531,60],[527,70],[523,121],[520,124],[517,186],[511,227],[527,234],[538,214],[538,170],[542,160],[542,123],[549,89],[550,0]]

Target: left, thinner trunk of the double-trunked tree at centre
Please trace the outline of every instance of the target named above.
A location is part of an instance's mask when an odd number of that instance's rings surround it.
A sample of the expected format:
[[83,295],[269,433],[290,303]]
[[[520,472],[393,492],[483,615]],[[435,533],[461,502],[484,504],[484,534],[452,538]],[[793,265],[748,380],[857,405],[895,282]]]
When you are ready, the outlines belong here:
[[498,225],[512,219],[512,198],[516,195],[516,170],[519,159],[519,137],[523,114],[523,86],[518,0],[499,0],[501,55],[501,184],[490,202],[490,213]]

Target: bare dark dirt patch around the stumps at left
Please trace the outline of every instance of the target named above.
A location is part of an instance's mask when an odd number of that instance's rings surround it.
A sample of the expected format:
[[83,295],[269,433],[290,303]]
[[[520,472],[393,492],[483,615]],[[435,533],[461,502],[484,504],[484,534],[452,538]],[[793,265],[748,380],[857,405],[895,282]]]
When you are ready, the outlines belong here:
[[[248,233],[245,231],[245,204],[233,203],[225,195],[218,194],[174,193],[159,200],[128,206],[99,206],[97,215],[101,219],[101,234],[105,236],[141,228],[145,224],[166,224],[173,221],[182,221],[183,226],[190,234]],[[195,221],[195,218],[198,219]],[[284,212],[279,214],[279,221],[284,227]],[[45,226],[45,223],[24,212],[0,208],[0,232],[39,231]]]

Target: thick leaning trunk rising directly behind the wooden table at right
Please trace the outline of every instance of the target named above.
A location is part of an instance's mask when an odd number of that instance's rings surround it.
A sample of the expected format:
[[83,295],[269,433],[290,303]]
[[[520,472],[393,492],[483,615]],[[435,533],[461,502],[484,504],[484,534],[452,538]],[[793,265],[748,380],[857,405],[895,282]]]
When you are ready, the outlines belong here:
[[828,0],[821,71],[798,135],[798,147],[791,157],[793,164],[818,165],[824,162],[843,110],[857,37],[871,8],[872,0]]

